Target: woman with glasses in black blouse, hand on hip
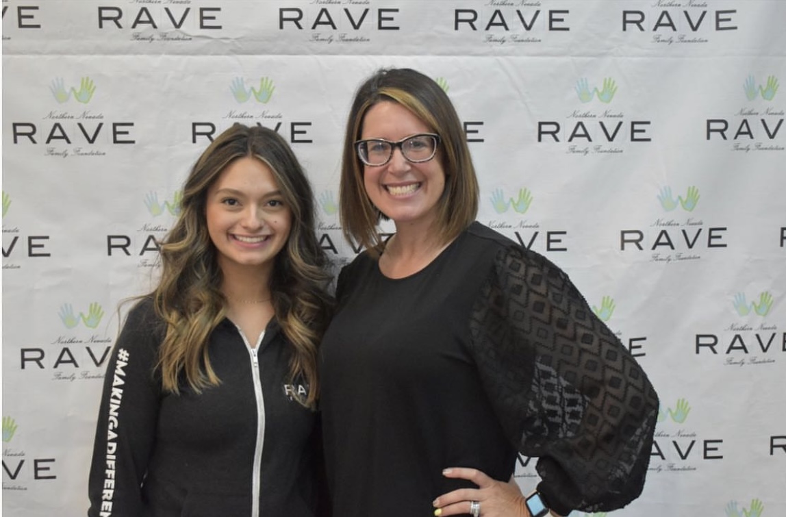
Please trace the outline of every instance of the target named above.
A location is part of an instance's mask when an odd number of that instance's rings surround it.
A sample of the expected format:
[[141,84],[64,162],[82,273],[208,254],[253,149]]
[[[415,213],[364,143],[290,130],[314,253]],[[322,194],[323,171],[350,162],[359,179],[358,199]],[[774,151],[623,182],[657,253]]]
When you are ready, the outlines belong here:
[[[641,493],[658,409],[645,372],[565,273],[475,222],[478,194],[437,83],[389,69],[360,86],[340,214],[366,251],[321,345],[334,515],[567,515]],[[538,457],[529,497],[518,454]]]

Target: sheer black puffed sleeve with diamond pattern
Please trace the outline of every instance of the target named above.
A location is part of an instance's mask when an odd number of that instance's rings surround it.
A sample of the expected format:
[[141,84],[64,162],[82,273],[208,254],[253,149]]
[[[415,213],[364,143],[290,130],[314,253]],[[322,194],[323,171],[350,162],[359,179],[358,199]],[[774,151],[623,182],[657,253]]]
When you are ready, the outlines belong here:
[[550,508],[608,512],[638,497],[658,398],[567,275],[531,251],[501,249],[470,327],[483,386],[512,443],[538,457]]

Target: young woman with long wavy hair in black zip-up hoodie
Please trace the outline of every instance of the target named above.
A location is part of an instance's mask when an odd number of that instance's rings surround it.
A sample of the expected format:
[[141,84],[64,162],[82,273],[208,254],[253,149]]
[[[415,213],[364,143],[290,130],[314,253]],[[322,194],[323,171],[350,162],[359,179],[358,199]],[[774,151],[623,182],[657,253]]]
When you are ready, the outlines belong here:
[[331,299],[284,139],[219,135],[160,257],[108,365],[88,515],[323,515],[314,406]]

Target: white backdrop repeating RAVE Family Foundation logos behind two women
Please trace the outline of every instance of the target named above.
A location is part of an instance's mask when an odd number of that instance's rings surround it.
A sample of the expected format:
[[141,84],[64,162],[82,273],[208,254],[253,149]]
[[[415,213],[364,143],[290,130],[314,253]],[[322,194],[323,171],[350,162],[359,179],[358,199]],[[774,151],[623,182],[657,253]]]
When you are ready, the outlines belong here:
[[351,98],[406,66],[457,107],[479,220],[567,270],[659,391],[613,515],[786,515],[784,27],[781,0],[3,0],[3,512],[85,515],[118,305],[211,138],[284,135],[340,265]]

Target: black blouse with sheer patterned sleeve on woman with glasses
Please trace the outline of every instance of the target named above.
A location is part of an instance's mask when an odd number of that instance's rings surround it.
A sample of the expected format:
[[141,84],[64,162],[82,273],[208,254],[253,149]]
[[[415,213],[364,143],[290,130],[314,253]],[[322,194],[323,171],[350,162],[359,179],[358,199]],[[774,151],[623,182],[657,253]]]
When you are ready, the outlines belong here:
[[334,515],[433,515],[443,468],[512,475],[538,457],[555,512],[642,490],[658,399],[567,275],[474,223],[402,279],[360,255],[321,347]]

